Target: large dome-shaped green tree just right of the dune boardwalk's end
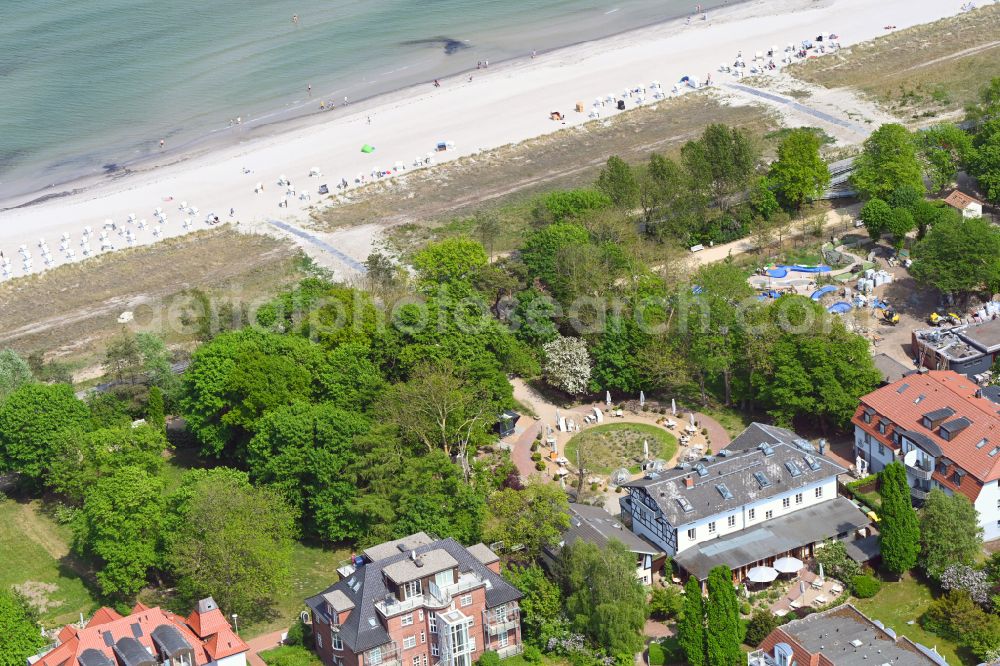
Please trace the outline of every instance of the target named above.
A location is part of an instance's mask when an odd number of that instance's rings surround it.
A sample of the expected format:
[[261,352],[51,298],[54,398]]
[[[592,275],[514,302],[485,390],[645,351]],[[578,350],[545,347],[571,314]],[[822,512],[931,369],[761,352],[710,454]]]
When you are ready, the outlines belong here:
[[854,160],[854,187],[865,197],[888,199],[904,185],[924,188],[923,170],[916,144],[905,127],[882,125],[865,139],[864,150]]

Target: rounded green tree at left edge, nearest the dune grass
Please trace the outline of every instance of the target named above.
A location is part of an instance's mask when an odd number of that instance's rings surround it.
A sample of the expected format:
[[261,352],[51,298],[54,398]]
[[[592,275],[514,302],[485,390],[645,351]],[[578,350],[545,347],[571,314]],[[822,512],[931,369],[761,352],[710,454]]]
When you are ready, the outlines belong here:
[[0,404],[0,469],[40,483],[64,433],[90,428],[90,410],[66,384],[24,384]]

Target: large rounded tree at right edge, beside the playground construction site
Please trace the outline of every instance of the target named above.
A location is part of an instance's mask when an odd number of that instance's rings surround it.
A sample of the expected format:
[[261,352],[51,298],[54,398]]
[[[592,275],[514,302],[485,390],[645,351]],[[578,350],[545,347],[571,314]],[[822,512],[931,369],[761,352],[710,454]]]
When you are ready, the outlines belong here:
[[910,272],[944,293],[1000,288],[1000,231],[982,219],[945,216],[913,249]]

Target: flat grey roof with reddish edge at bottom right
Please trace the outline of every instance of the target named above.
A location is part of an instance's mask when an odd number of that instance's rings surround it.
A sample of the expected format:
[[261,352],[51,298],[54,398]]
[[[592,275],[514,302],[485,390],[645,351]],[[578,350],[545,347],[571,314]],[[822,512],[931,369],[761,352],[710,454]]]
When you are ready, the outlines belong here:
[[781,631],[810,653],[823,654],[837,666],[945,663],[929,656],[927,648],[905,636],[897,637],[891,629],[885,629],[881,622],[869,619],[851,604],[793,620],[782,625]]

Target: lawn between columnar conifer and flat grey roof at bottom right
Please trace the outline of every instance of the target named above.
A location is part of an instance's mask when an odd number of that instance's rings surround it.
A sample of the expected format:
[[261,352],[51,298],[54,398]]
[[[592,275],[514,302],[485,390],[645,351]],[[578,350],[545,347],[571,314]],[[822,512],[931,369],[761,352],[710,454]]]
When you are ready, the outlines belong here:
[[[871,599],[854,599],[852,603],[873,620],[927,647],[936,647],[949,664],[975,664],[977,661],[958,646],[936,634],[924,631],[919,624],[920,615],[932,601],[930,588],[923,582],[905,576],[898,583],[883,583],[882,589]],[[913,624],[908,624],[910,621]],[[959,658],[959,655],[964,658]]]

